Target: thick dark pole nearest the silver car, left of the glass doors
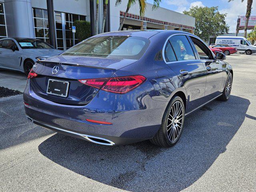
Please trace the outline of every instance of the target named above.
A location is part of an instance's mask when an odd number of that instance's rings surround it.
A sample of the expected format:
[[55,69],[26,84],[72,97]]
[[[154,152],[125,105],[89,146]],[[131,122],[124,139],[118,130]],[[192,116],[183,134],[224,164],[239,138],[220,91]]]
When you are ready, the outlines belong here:
[[47,3],[48,24],[49,24],[48,34],[50,36],[50,44],[54,48],[57,48],[57,46],[56,46],[56,34],[55,34],[55,19],[54,19],[53,0],[46,0],[46,3]]

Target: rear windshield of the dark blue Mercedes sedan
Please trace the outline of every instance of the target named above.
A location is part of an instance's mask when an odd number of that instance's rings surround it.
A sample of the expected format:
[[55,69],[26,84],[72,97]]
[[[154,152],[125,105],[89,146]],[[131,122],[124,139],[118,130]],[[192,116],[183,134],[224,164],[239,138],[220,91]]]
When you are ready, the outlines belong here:
[[133,36],[100,36],[84,40],[62,55],[140,59],[150,41]]

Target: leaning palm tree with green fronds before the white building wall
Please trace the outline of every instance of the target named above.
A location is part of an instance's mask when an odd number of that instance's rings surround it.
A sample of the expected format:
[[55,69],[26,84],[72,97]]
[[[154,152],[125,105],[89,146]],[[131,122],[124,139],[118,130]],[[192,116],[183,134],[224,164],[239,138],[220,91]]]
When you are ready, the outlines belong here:
[[[139,6],[140,6],[140,16],[144,16],[144,13],[146,11],[146,0],[138,0]],[[153,8],[152,10],[156,10],[159,7],[161,0],[154,0]],[[122,0],[116,0],[116,6],[122,3]],[[119,26],[118,31],[120,31],[123,27],[124,21],[126,19],[126,15],[128,14],[128,11],[131,6],[133,6],[136,3],[136,0],[128,0],[127,6],[126,6],[126,11],[124,14],[124,18],[122,19],[122,22]]]

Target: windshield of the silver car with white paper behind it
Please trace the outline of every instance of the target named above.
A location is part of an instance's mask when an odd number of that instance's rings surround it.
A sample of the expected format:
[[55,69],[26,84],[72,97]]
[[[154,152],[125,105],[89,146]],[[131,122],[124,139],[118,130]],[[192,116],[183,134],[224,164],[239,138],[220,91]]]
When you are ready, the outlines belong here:
[[54,49],[48,43],[37,39],[16,39],[22,49]]

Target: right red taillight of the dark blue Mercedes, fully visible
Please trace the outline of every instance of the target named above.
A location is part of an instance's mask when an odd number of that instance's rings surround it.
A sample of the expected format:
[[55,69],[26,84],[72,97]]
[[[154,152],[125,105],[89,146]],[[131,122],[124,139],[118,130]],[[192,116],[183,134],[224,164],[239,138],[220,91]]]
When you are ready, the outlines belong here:
[[146,78],[141,75],[98,78],[98,79],[80,79],[81,83],[101,89],[107,92],[124,94],[138,87]]

